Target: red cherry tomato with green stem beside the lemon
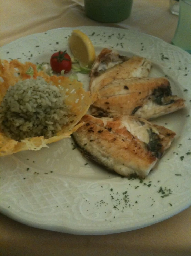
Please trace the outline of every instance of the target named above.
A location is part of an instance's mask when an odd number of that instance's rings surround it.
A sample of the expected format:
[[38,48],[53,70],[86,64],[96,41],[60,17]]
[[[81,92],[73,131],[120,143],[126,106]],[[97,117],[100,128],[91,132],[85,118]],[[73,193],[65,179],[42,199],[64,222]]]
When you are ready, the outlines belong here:
[[60,73],[65,70],[64,73],[68,73],[72,68],[71,58],[66,51],[56,52],[50,58],[50,65],[53,71]]

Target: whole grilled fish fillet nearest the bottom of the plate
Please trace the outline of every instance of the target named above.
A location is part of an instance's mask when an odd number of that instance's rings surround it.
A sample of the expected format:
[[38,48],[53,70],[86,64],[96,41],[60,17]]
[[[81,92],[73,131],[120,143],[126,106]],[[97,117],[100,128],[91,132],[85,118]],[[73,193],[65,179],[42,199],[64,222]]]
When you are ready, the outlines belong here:
[[142,118],[85,115],[73,138],[84,156],[128,177],[144,178],[170,147],[175,132]]

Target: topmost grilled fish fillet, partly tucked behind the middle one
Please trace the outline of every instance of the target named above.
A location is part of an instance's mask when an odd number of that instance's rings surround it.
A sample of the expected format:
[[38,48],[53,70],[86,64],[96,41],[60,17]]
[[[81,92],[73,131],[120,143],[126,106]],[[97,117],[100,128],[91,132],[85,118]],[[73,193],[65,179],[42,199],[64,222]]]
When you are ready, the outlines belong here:
[[104,48],[91,69],[90,91],[97,92],[115,79],[147,77],[150,69],[151,62],[145,58],[129,58]]

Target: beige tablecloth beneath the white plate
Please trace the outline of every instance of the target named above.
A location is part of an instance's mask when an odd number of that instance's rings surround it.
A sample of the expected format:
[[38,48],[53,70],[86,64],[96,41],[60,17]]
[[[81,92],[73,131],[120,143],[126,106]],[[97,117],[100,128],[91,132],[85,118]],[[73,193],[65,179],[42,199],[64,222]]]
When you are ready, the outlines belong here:
[[[138,30],[171,42],[178,16],[168,0],[133,0],[131,16],[98,23],[84,15],[83,0],[1,1],[0,46],[59,27],[111,26]],[[0,255],[191,255],[191,207],[152,226],[99,236],[69,235],[32,228],[0,214]]]

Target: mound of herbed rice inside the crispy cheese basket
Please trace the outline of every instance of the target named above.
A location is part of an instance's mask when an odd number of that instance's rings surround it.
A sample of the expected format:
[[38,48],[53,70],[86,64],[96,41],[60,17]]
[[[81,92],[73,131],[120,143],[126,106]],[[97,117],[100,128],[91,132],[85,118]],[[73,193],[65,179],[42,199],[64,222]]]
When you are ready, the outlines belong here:
[[0,129],[17,141],[50,138],[68,122],[64,93],[42,77],[10,86],[0,106]]

